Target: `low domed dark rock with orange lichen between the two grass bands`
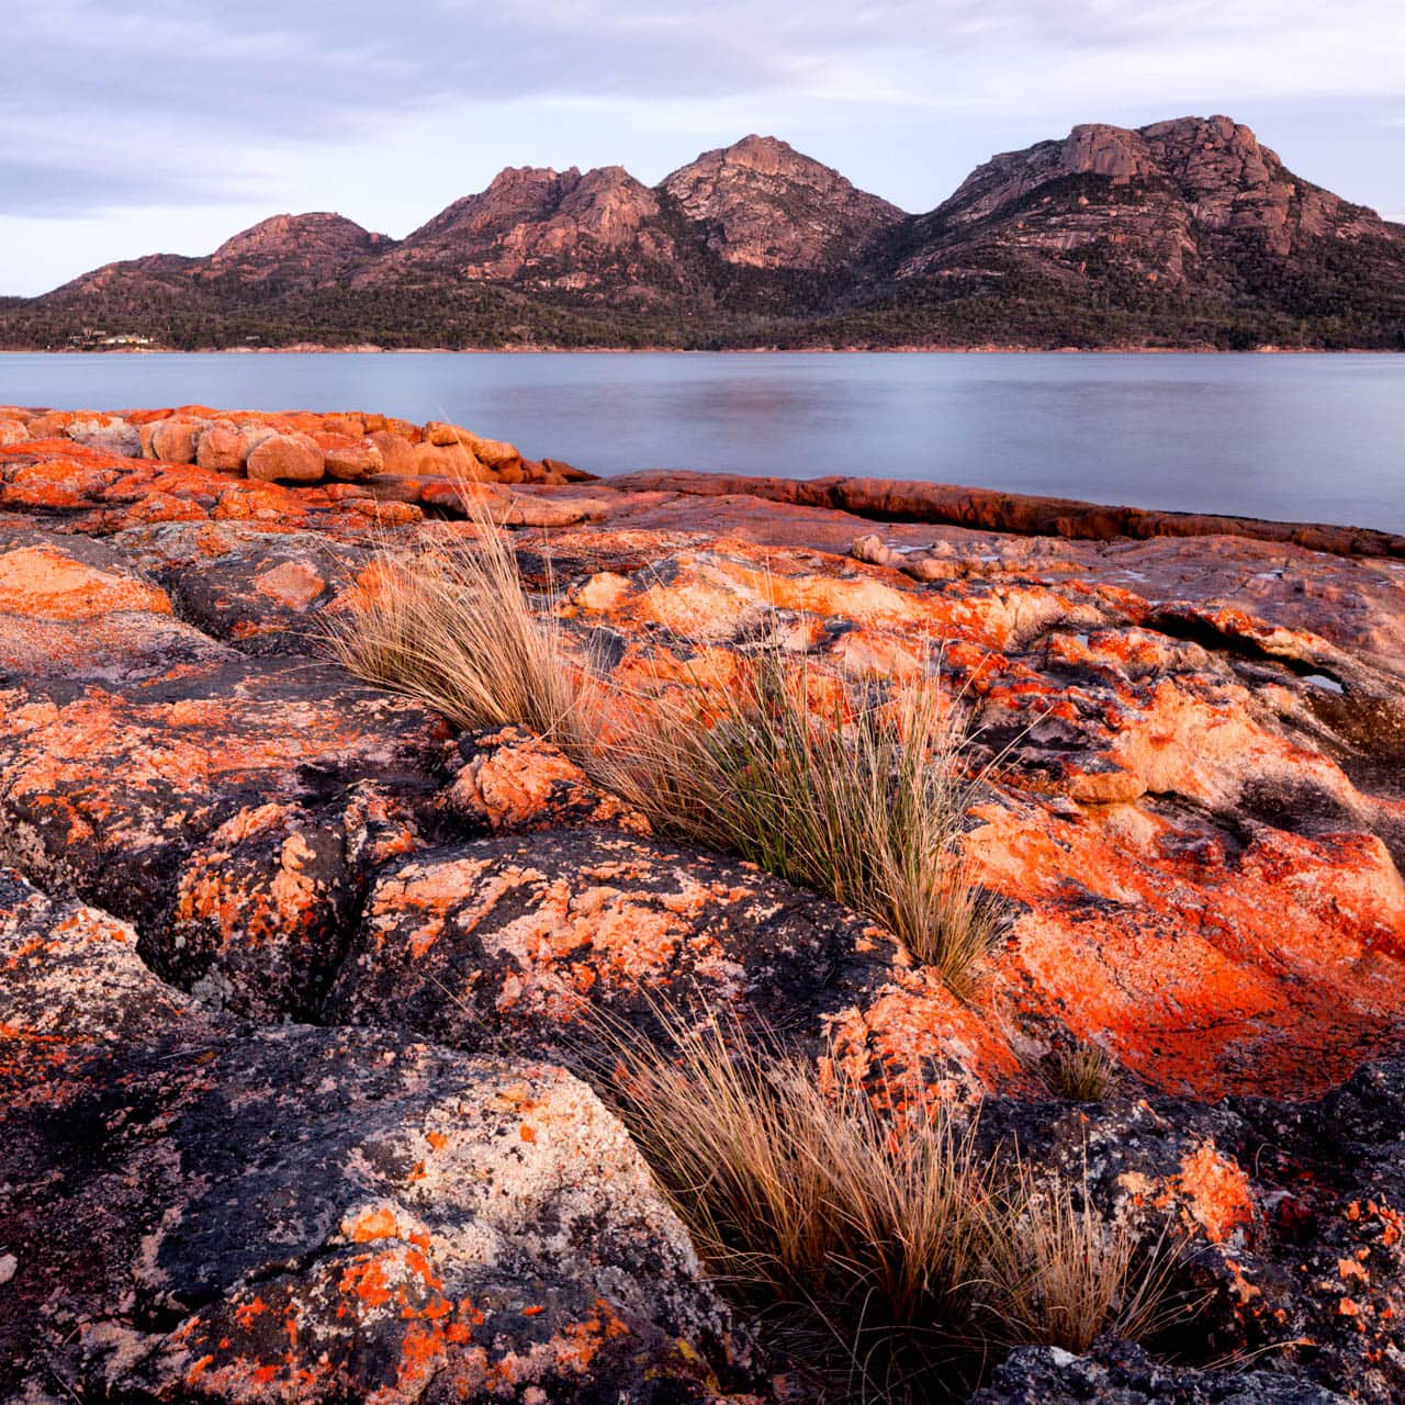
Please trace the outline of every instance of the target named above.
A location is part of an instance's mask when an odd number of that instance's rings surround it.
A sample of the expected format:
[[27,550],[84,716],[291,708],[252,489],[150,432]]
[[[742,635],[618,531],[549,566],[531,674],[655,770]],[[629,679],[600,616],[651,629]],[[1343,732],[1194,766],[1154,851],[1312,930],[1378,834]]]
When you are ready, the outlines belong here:
[[[551,1048],[593,1003],[731,1009],[809,1043],[867,999],[894,948],[867,923],[759,870],[625,835],[476,840],[388,870],[333,985],[336,1021],[398,1021],[479,1047]],[[937,1048],[936,1040],[927,1050]]]

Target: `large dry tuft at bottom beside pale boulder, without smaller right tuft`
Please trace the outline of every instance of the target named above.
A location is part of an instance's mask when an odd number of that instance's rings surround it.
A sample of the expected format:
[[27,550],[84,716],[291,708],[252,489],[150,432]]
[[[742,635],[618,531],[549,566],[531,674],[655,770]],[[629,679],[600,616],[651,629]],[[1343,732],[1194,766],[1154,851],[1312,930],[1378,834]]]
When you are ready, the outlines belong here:
[[[822,1398],[906,1398],[951,1366],[988,1257],[989,1168],[939,1116],[896,1135],[861,1087],[717,1021],[669,1052],[607,1031],[607,1086],[708,1270]],[[934,1398],[943,1392],[933,1391]]]

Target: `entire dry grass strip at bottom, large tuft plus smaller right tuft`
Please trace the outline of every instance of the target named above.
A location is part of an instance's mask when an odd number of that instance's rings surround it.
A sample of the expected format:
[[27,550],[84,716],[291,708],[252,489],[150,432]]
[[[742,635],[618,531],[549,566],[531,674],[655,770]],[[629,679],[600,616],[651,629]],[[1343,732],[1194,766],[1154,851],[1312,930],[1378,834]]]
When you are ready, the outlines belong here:
[[[816,1374],[822,1399],[964,1398],[1013,1345],[1086,1350],[1169,1321],[1139,1256],[1065,1183],[976,1149],[916,1099],[873,1099],[736,1023],[600,1031],[611,1097],[708,1269]],[[837,1065],[833,1065],[837,1069]],[[880,1109],[906,1102],[895,1118]]]

